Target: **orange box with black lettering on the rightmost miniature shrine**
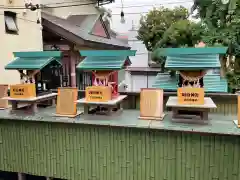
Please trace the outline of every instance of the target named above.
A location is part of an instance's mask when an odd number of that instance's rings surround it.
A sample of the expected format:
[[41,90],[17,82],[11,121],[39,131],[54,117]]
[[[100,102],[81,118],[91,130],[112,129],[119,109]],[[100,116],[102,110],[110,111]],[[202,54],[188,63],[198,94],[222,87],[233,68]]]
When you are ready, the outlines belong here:
[[204,105],[204,88],[178,88],[178,104]]

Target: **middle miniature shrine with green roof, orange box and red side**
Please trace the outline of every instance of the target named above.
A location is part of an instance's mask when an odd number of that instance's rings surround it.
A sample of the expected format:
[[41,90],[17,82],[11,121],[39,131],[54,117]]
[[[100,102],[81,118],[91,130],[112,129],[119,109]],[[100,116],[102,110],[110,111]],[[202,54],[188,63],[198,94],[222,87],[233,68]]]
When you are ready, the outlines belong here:
[[129,56],[135,56],[136,51],[86,50],[80,54],[85,59],[77,69],[92,72],[92,86],[86,88],[85,98],[77,101],[84,104],[84,114],[110,114],[121,110],[127,96],[119,95],[118,71],[131,64]]

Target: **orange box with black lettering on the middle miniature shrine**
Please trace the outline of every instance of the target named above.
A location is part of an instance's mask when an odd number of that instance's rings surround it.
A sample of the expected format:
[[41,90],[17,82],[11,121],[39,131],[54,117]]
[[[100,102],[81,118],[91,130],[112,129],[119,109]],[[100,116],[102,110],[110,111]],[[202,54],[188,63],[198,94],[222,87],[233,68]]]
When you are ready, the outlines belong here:
[[85,98],[87,102],[107,102],[112,99],[112,89],[109,86],[89,86]]

